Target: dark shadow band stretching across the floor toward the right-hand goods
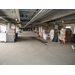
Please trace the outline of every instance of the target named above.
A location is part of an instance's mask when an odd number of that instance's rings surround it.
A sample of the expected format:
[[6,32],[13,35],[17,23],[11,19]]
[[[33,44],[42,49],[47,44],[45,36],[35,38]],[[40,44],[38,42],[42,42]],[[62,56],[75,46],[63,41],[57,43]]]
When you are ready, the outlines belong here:
[[[37,38],[37,37],[19,37],[16,42],[22,42],[22,41],[33,41],[33,40],[37,40],[37,41],[40,41],[41,43],[47,43],[46,40],[44,39],[41,39],[41,38]],[[46,45],[46,44],[45,44]]]

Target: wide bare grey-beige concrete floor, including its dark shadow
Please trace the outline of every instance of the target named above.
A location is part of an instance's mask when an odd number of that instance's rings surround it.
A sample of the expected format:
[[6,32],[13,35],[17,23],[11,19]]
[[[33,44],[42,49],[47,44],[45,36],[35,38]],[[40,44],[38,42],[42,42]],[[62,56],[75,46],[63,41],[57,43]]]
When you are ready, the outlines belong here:
[[75,65],[75,50],[26,31],[15,43],[0,43],[0,65]]

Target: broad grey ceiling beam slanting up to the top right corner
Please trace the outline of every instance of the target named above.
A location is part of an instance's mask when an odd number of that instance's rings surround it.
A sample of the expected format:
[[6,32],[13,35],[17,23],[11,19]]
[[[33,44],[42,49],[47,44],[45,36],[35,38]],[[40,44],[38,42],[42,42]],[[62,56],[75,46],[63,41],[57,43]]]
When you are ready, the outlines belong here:
[[[55,11],[53,13],[48,13],[46,16],[42,17],[41,20],[39,19],[39,22],[44,23],[44,22],[48,22],[48,21],[55,20],[58,18],[63,18],[66,16],[68,18],[68,16],[70,16],[72,14],[75,14],[75,9],[58,9],[58,10],[55,9]],[[73,15],[72,15],[72,17],[73,17]]]

